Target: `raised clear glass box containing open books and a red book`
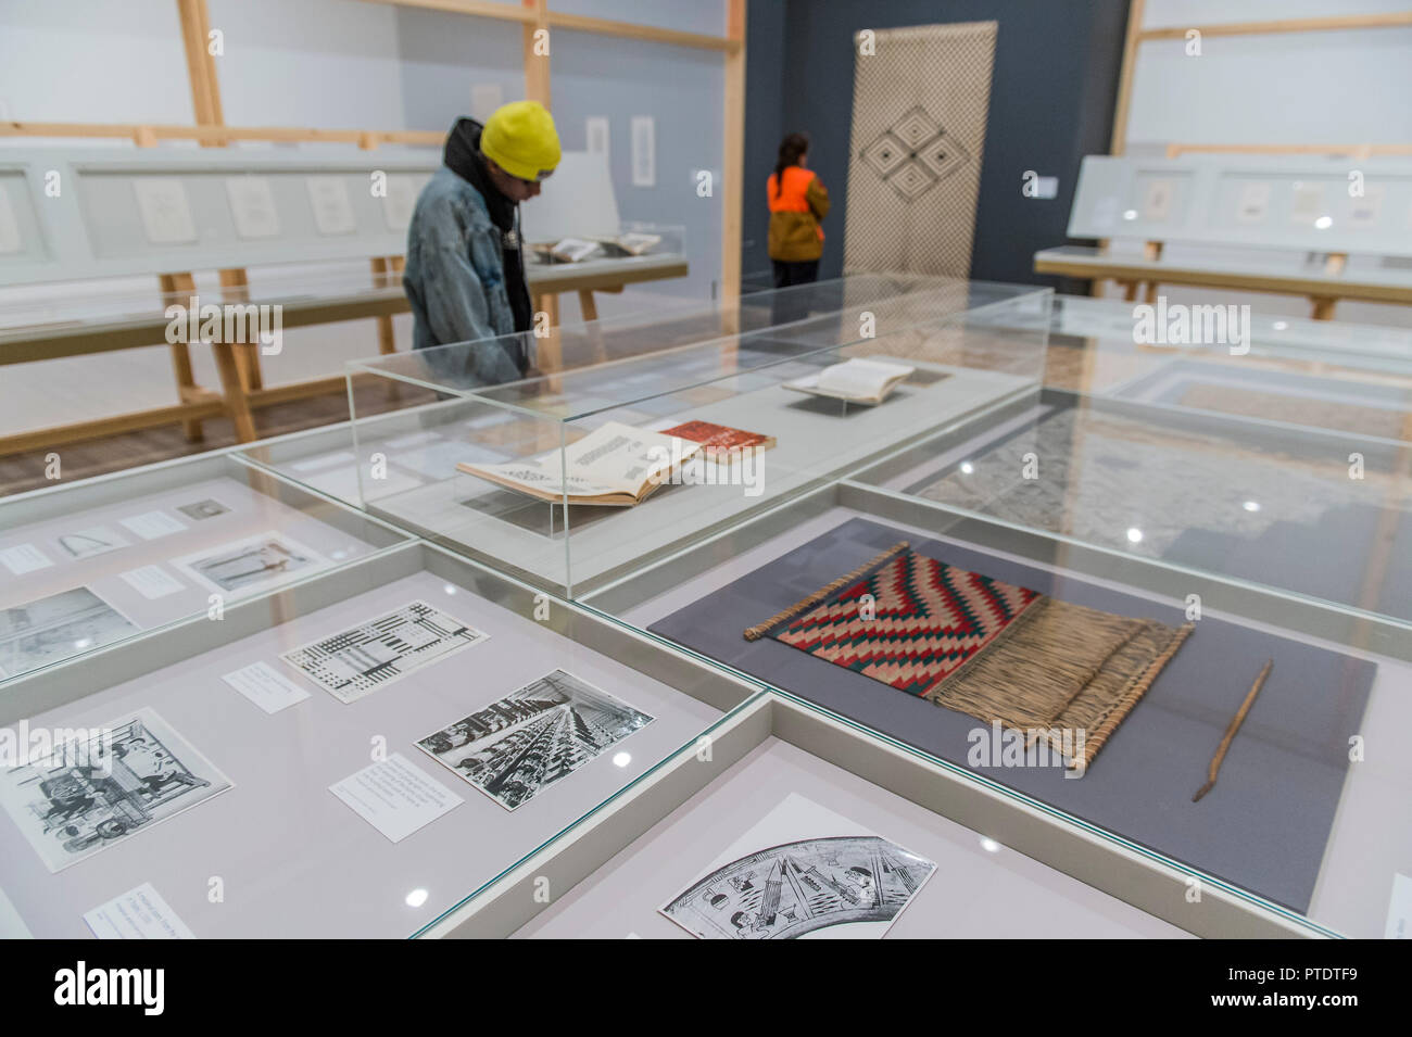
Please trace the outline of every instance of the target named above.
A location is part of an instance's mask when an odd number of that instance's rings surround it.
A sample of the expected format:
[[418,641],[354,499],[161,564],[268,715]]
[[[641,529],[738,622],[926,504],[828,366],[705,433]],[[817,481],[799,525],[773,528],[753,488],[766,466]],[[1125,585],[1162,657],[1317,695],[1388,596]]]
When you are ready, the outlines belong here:
[[[438,399],[369,419],[354,405],[352,446],[330,467],[356,475],[370,514],[580,594],[1038,389],[1048,291],[938,282],[854,298],[651,353],[593,325],[562,329],[565,354],[600,343],[609,360],[503,385],[477,375],[542,350],[532,336],[354,364],[350,384],[373,375]],[[640,332],[652,326],[627,341]]]

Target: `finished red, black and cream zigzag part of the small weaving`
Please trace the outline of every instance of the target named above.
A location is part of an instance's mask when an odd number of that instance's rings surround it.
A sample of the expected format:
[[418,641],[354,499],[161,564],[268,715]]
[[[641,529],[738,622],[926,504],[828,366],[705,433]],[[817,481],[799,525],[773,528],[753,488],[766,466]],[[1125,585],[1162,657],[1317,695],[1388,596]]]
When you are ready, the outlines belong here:
[[[866,619],[864,595],[874,602]],[[1039,594],[916,552],[904,552],[777,641],[922,696],[990,645]]]

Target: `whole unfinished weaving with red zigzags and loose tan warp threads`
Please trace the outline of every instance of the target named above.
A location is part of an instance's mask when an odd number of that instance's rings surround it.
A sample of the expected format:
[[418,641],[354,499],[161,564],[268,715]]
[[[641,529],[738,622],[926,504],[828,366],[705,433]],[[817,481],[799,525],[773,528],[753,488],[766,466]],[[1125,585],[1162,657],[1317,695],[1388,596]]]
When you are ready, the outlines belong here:
[[1189,632],[1058,601],[899,543],[746,636],[1025,731],[1087,766]]

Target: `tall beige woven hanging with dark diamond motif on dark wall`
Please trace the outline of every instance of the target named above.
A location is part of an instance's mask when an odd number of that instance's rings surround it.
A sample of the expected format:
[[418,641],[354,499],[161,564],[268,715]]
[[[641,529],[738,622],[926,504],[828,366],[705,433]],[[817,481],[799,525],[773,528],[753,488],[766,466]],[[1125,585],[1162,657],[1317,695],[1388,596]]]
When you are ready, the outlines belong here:
[[969,277],[995,27],[856,40],[846,272]]

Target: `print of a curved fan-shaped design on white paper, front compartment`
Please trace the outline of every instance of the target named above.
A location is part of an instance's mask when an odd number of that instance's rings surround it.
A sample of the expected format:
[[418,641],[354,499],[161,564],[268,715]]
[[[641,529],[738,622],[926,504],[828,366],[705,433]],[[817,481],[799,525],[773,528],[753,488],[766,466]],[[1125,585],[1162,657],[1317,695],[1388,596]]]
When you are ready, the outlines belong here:
[[702,940],[877,940],[936,865],[791,793],[662,914]]

